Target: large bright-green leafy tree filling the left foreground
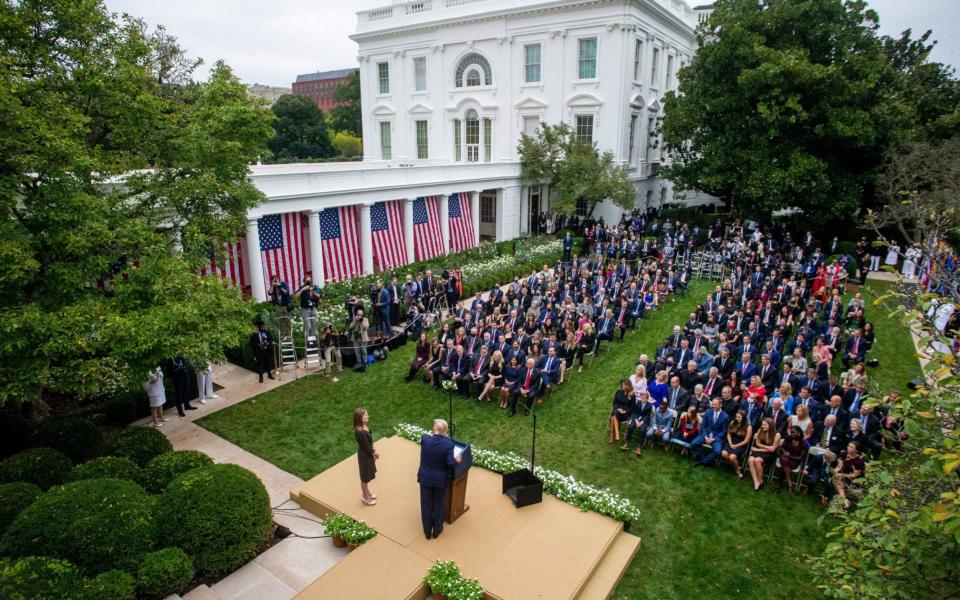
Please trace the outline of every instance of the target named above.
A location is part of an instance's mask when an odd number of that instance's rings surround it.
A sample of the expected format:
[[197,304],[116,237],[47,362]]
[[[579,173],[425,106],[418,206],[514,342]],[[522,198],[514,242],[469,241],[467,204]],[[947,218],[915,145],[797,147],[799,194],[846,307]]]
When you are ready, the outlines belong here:
[[247,165],[271,113],[98,0],[0,3],[0,39],[0,403],[222,357],[248,308],[197,271],[262,200]]

